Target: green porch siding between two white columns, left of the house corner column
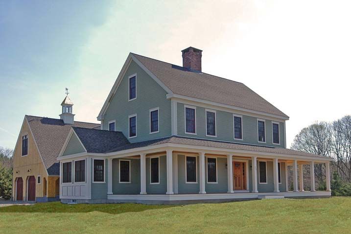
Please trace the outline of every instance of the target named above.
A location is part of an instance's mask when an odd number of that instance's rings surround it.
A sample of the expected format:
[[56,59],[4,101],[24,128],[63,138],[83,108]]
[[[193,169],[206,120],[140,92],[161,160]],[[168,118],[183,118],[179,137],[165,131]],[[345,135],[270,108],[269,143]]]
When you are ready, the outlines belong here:
[[146,158],[146,193],[165,194],[167,192],[166,156],[160,156],[160,184],[150,184],[150,158]]

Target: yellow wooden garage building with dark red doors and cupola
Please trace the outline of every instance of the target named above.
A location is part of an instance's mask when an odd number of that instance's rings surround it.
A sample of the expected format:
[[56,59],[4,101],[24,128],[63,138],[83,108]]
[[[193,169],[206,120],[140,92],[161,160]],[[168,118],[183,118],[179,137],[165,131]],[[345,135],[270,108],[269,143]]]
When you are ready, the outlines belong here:
[[60,166],[56,158],[71,126],[100,128],[100,124],[74,121],[69,96],[61,105],[60,119],[24,116],[13,154],[15,201],[58,200]]

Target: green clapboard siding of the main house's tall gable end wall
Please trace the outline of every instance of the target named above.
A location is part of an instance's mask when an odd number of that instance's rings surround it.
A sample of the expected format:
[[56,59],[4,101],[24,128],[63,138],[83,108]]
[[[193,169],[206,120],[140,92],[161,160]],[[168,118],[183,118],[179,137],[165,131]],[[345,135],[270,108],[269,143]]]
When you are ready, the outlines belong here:
[[[137,73],[137,99],[128,101],[129,76]],[[134,61],[126,71],[116,94],[103,119],[103,129],[108,130],[108,122],[116,120],[116,130],[128,138],[129,118],[137,114],[137,137],[130,142],[153,140],[171,136],[171,102],[166,99],[166,92]],[[150,113],[152,108],[159,107],[159,133],[150,134]]]

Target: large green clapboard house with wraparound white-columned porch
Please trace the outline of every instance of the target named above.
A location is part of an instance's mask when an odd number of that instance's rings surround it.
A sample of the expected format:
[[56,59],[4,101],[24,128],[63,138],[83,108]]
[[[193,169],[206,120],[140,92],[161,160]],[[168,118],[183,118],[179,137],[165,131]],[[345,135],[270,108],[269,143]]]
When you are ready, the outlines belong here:
[[[286,148],[287,115],[244,84],[202,72],[202,50],[182,57],[180,67],[129,54],[97,117],[101,129],[72,126],[63,144],[61,202],[330,196],[330,159]],[[326,164],[326,191],[315,190],[314,164]]]

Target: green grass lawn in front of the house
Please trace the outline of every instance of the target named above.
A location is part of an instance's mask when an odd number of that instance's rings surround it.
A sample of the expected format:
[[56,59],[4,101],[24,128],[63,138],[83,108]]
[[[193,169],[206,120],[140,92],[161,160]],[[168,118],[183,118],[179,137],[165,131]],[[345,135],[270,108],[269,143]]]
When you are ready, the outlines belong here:
[[351,197],[0,208],[0,233],[351,233]]

